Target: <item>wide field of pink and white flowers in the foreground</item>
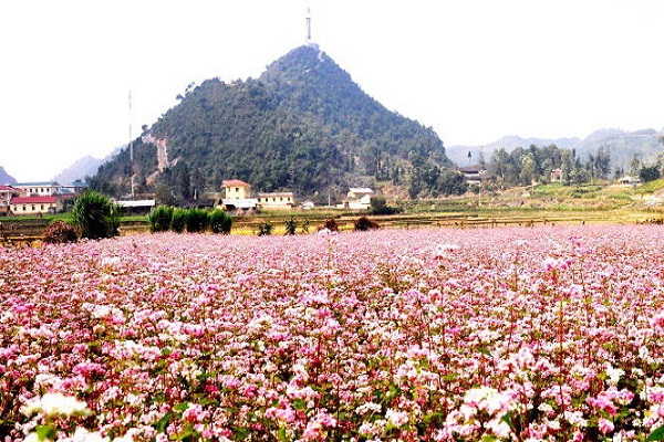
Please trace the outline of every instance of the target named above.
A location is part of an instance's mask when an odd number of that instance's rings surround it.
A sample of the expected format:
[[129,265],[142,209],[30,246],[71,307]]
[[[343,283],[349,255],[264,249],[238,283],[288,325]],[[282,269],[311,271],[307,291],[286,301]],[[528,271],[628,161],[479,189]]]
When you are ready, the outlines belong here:
[[664,440],[664,228],[0,250],[4,441]]

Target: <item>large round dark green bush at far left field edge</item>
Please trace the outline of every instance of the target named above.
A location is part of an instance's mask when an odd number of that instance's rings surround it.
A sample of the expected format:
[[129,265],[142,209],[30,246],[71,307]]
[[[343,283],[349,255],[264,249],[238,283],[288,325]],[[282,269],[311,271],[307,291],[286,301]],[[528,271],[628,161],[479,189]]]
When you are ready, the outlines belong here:
[[118,208],[108,197],[89,190],[74,201],[72,209],[73,223],[81,231],[82,238],[98,240],[120,234]]

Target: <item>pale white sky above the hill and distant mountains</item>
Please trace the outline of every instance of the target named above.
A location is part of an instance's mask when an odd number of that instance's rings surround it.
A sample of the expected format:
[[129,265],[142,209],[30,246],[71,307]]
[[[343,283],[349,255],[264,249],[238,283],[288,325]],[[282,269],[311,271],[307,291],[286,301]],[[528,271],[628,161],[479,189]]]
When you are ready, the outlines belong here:
[[48,180],[190,83],[258,77],[305,43],[308,4],[321,50],[446,146],[664,127],[662,0],[8,0],[0,166]]

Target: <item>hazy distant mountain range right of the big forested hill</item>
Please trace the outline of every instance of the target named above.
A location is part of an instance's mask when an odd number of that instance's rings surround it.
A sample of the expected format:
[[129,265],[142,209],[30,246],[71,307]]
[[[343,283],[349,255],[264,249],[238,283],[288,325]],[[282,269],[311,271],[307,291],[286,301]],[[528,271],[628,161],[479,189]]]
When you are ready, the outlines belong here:
[[[624,131],[614,128],[604,128],[595,130],[585,139],[581,138],[521,138],[518,136],[502,137],[494,143],[484,146],[452,146],[446,147],[445,152],[448,158],[458,166],[475,165],[480,156],[486,161],[491,159],[491,155],[497,149],[504,148],[508,152],[517,147],[528,148],[531,145],[544,147],[556,145],[562,149],[574,149],[577,156],[582,160],[588,159],[589,155],[594,155],[596,150],[604,146],[611,154],[611,167],[613,169],[629,170],[630,164],[636,155],[645,164],[654,162],[657,155],[664,151],[664,146],[660,137],[664,129],[643,129],[636,131]],[[468,157],[470,152],[470,157]]]

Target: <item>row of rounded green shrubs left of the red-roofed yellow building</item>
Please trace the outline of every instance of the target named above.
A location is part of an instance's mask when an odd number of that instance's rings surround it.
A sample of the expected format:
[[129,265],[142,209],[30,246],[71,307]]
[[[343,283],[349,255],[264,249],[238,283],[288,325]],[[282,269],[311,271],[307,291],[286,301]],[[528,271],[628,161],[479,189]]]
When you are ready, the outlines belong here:
[[232,217],[221,209],[174,208],[157,206],[147,215],[151,232],[230,233]]

